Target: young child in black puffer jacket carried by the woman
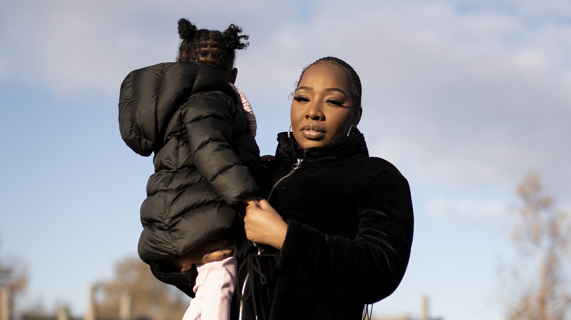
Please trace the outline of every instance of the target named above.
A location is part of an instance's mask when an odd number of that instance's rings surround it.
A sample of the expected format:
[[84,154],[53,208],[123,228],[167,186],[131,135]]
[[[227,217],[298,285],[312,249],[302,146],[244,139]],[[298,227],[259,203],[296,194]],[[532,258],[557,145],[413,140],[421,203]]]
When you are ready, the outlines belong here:
[[235,246],[232,256],[184,274],[171,260],[221,234],[231,237],[234,206],[259,192],[250,172],[260,165],[256,119],[233,84],[235,50],[248,36],[234,25],[224,32],[197,30],[186,19],[178,25],[177,62],[132,71],[120,89],[123,140],[142,156],[155,154],[138,252],[156,278],[195,295],[185,320],[229,319]]

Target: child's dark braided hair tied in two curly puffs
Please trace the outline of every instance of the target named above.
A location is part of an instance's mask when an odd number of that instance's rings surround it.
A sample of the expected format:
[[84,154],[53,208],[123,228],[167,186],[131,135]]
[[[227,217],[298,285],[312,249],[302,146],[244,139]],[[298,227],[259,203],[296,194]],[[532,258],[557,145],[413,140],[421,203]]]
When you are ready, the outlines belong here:
[[230,25],[224,32],[218,30],[197,30],[187,19],[178,22],[180,42],[176,62],[198,61],[208,64],[223,72],[228,72],[234,67],[236,58],[235,50],[242,50],[248,46],[247,35],[239,35],[242,28]]

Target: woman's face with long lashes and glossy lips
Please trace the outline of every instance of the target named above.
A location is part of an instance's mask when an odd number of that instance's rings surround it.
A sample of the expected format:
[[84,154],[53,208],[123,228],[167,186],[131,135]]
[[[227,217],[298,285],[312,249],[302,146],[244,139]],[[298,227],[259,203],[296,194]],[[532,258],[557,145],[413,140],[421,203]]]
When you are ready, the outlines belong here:
[[291,103],[291,129],[301,148],[324,147],[347,136],[357,125],[361,107],[354,107],[347,76],[333,63],[305,70]]

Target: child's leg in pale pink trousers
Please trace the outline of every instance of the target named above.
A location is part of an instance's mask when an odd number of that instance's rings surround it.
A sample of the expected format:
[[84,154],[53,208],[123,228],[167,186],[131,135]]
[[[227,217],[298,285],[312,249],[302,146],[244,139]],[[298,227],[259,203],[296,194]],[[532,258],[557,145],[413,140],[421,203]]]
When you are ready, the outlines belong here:
[[183,320],[230,319],[230,303],[234,294],[238,264],[236,245],[230,248],[234,249],[232,256],[222,261],[196,265],[198,276],[192,289],[196,297],[191,300]]

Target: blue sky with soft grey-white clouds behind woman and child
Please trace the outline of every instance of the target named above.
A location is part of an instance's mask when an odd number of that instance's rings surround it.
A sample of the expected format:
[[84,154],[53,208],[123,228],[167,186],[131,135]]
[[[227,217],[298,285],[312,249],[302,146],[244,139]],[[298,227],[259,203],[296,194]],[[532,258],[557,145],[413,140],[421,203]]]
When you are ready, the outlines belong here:
[[0,240],[27,265],[21,305],[82,314],[90,283],[136,254],[151,158],[120,139],[119,85],[176,56],[176,21],[250,35],[238,81],[263,153],[301,68],[333,55],[363,82],[373,156],[411,184],[415,240],[375,315],[501,319],[510,205],[529,170],[571,208],[571,3],[545,1],[3,1]]

